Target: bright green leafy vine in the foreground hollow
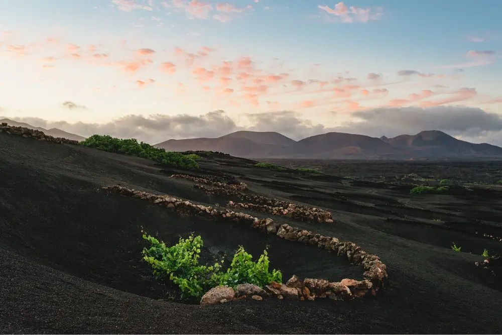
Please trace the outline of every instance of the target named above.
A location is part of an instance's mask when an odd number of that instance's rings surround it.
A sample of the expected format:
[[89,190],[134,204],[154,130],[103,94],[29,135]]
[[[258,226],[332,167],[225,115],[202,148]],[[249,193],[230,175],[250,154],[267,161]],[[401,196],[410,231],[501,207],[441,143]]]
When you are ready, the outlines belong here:
[[143,259],[150,264],[157,279],[170,280],[177,285],[183,299],[199,299],[209,289],[218,285],[236,287],[250,283],[263,287],[275,280],[282,282],[282,273],[278,270],[269,272],[269,258],[265,250],[258,262],[253,256],[239,247],[226,272],[221,271],[221,264],[200,265],[200,250],[203,241],[200,236],[180,238],[178,244],[167,247],[152,236],[143,235],[150,243],[150,248],[143,249]]

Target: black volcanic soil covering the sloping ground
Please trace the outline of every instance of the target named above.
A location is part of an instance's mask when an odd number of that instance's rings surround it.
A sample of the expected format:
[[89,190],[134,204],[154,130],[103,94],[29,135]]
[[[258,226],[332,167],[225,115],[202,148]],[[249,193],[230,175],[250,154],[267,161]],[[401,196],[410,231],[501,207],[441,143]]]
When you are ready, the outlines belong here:
[[[338,281],[359,279],[363,270],[247,227],[179,216],[97,191],[120,183],[225,205],[225,197],[169,178],[183,171],[161,172],[165,167],[140,158],[0,134],[0,332],[500,333],[502,274],[486,276],[474,266],[485,248],[502,254],[502,242],[483,237],[502,238],[500,187],[470,185],[472,191],[455,195],[412,196],[414,182],[390,178],[434,174],[436,163],[322,163],[338,177],[273,172],[253,164],[211,155],[201,161],[200,174],[234,175],[256,193],[331,210],[331,225],[273,218],[379,255],[390,280],[376,299],[209,307],[166,301],[170,288],[156,282],[141,260],[141,227],[166,242],[200,234],[210,255],[230,254],[241,244],[258,256],[270,245],[271,266],[285,277]],[[453,168],[475,179],[482,169],[498,170],[496,164]],[[375,182],[381,176],[387,180]],[[462,252],[452,251],[452,242]]]

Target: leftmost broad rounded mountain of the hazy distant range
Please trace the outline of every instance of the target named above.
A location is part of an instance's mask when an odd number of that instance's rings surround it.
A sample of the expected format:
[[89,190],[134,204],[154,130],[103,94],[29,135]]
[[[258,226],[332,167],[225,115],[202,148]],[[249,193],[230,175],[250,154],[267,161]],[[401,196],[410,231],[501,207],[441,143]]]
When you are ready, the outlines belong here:
[[168,140],[155,147],[168,151],[219,151],[237,157],[267,157],[296,141],[275,132],[241,131],[218,138]]

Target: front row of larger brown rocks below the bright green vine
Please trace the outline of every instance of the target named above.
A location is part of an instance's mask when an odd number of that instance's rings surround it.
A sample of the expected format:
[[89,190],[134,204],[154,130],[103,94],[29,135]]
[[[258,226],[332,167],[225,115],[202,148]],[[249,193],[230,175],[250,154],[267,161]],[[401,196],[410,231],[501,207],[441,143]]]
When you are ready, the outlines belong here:
[[367,279],[358,281],[346,278],[340,282],[329,282],[325,279],[306,278],[302,281],[293,275],[286,284],[273,281],[265,289],[253,284],[240,284],[235,290],[229,286],[217,286],[202,296],[200,304],[215,305],[245,298],[258,301],[268,298],[314,301],[316,298],[348,300],[374,295],[373,284]]

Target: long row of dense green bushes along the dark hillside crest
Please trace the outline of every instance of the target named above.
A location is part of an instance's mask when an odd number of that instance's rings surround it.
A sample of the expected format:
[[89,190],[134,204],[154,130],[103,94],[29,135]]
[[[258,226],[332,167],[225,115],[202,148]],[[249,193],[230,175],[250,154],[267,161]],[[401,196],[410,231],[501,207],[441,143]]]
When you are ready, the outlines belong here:
[[80,144],[103,151],[147,158],[157,163],[171,166],[188,169],[197,169],[199,167],[195,161],[198,156],[195,154],[183,155],[177,152],[154,148],[148,143],[138,143],[136,139],[121,140],[108,135],[92,135],[80,142]]

